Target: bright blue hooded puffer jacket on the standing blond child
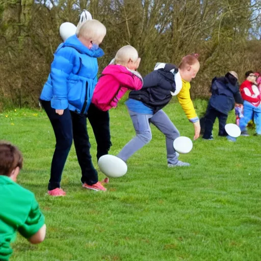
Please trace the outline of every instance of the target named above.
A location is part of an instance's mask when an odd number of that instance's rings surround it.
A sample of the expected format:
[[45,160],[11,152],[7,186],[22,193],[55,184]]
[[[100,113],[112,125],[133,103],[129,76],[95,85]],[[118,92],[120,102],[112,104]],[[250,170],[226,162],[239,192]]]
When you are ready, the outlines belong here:
[[97,58],[103,50],[90,50],[77,38],[69,37],[56,52],[41,100],[51,101],[57,110],[69,109],[85,114],[97,83]]

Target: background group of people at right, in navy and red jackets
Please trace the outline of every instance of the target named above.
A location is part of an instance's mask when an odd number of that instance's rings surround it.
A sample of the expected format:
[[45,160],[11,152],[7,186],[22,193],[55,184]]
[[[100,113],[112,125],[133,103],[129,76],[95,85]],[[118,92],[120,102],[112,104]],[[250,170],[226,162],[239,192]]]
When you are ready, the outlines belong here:
[[239,86],[238,74],[234,71],[224,77],[215,77],[211,84],[211,98],[208,102],[205,116],[200,119],[203,139],[213,140],[213,125],[219,119],[219,136],[227,136],[230,141],[236,141],[225,131],[228,113],[234,108],[236,123],[241,129],[241,136],[249,136],[247,125],[253,120],[256,135],[261,135],[261,75],[247,71],[245,81]]

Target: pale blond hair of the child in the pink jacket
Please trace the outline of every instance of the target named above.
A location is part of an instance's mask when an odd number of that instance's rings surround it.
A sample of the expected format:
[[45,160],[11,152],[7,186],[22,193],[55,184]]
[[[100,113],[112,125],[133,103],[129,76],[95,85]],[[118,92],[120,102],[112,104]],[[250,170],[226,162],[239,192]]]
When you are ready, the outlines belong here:
[[138,58],[138,51],[131,45],[125,45],[117,51],[114,63],[126,65],[130,60],[136,62]]

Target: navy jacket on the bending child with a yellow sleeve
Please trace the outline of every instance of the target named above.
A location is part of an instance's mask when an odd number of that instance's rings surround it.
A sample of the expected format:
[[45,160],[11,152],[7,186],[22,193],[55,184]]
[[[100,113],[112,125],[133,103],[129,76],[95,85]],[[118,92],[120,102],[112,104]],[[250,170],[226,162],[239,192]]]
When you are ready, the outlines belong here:
[[128,97],[142,101],[156,113],[169,103],[172,98],[170,92],[175,92],[175,90],[174,74],[162,68],[147,74],[143,78],[142,89],[131,91]]

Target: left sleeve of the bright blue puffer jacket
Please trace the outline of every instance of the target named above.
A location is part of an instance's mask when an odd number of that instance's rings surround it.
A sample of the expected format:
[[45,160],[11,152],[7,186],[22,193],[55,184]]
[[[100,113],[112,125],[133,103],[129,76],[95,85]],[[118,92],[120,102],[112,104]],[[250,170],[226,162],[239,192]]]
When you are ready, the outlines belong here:
[[68,107],[67,79],[73,68],[73,49],[70,47],[61,48],[51,63],[51,83],[54,95],[51,99],[51,107],[57,110],[64,110]]

